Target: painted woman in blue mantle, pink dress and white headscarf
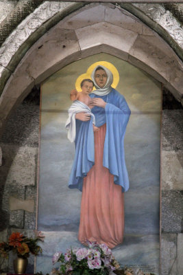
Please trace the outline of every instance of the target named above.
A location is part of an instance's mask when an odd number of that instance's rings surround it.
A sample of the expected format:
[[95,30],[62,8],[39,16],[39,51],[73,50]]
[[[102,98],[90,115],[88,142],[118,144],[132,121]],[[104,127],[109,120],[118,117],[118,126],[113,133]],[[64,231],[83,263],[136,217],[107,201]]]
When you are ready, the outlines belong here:
[[123,142],[130,109],[111,87],[113,76],[107,67],[95,67],[91,78],[96,88],[90,94],[91,110],[99,131],[93,132],[88,113],[75,114],[75,159],[69,188],[82,190],[79,241],[114,248],[123,242],[124,192],[129,188]]

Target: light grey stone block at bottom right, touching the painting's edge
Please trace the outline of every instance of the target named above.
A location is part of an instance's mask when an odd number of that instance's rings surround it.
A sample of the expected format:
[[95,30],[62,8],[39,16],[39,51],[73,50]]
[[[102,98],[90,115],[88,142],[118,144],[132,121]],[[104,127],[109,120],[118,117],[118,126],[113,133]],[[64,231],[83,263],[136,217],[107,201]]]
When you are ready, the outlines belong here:
[[160,248],[161,275],[169,275],[171,271],[176,270],[176,250],[177,234],[162,234]]

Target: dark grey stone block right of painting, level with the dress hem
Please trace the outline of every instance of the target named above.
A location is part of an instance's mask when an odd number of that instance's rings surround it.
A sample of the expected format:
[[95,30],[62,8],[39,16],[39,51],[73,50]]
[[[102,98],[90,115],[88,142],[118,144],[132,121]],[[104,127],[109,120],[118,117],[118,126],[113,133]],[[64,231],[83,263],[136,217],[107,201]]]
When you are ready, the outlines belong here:
[[182,232],[183,214],[183,193],[182,191],[162,192],[162,232]]

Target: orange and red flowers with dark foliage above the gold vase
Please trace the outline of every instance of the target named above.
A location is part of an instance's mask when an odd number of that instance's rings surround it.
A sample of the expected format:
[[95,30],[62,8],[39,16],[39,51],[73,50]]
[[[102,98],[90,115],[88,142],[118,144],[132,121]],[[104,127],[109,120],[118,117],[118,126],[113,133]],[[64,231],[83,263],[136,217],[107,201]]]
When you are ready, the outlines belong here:
[[42,238],[44,236],[41,232],[36,233],[36,238],[28,238],[20,232],[13,232],[8,242],[0,243],[0,256],[7,259],[10,251],[23,259],[27,259],[30,253],[36,256],[42,252],[42,248],[37,244],[38,241],[42,241]]

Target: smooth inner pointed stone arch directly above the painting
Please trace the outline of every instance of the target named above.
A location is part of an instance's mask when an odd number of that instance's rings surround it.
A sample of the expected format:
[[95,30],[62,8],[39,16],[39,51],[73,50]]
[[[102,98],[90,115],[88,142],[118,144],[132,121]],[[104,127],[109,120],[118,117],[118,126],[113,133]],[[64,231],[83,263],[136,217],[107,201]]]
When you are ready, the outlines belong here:
[[[30,18],[26,21],[27,29],[24,30],[27,39],[34,36],[35,30],[41,37],[26,54],[26,47],[23,48],[25,56],[19,65],[16,67],[12,62],[12,55],[9,59],[4,59],[1,69],[2,72],[8,69],[9,76],[0,101],[2,129],[12,109],[25,98],[35,84],[44,81],[65,65],[99,52],[113,54],[144,69],[164,83],[175,98],[181,100],[183,85],[180,58],[158,34],[133,14],[112,4],[93,3],[81,7],[80,3],[59,2],[58,5],[56,9],[53,8],[53,13],[46,14],[42,19],[46,22],[44,26],[38,20],[38,16],[39,18],[42,16],[41,9],[44,10],[43,14],[45,11],[48,12],[44,4],[30,14]],[[60,21],[55,17],[58,9],[61,9]],[[95,9],[95,12],[92,9]],[[72,13],[65,17],[69,12]],[[54,25],[50,30],[46,29],[48,17]],[[79,18],[82,18],[82,21]],[[29,24],[34,22],[36,25],[30,30]],[[21,25],[19,32],[24,27],[25,25]],[[19,32],[12,34],[13,37]],[[21,46],[16,45],[17,39],[19,40],[19,36],[15,41],[11,39],[9,41],[10,45],[15,47],[12,50],[15,55],[19,55],[19,48],[24,45],[24,43],[21,43]],[[5,46],[3,49],[5,50]],[[13,74],[11,69],[14,70]]]

